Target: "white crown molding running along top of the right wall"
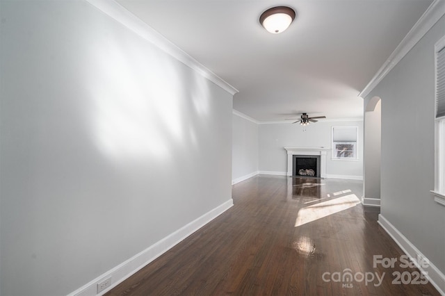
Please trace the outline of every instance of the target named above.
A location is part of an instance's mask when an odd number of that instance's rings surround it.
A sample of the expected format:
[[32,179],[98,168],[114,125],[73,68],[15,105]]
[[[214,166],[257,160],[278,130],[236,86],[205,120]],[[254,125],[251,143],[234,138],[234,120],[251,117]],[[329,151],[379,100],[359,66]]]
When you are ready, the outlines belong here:
[[398,44],[396,49],[392,52],[391,56],[380,67],[378,72],[373,76],[373,79],[369,81],[364,90],[359,93],[358,97],[365,98],[375,86],[382,81],[385,76],[393,69],[398,62],[402,60],[404,56],[414,47],[414,45],[423,38],[423,36],[434,26],[437,21],[445,15],[445,1],[435,0],[431,3],[430,7],[423,13],[421,18],[414,24],[410,32],[407,33],[402,42]]

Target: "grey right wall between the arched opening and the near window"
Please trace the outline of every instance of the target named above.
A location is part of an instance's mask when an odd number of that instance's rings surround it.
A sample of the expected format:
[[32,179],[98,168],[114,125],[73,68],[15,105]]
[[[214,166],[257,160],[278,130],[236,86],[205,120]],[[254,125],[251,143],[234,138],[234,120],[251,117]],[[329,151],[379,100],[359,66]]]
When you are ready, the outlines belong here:
[[[429,191],[435,161],[434,45],[444,35],[442,17],[365,101],[382,99],[381,215],[442,274],[445,207]],[[445,291],[445,280],[442,285]]]

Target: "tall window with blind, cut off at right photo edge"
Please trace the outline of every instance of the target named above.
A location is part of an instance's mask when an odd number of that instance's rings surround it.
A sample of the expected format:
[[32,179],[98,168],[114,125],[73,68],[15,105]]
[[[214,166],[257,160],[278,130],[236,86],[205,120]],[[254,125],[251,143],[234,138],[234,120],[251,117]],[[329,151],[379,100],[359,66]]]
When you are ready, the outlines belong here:
[[435,45],[435,201],[445,206],[445,36]]

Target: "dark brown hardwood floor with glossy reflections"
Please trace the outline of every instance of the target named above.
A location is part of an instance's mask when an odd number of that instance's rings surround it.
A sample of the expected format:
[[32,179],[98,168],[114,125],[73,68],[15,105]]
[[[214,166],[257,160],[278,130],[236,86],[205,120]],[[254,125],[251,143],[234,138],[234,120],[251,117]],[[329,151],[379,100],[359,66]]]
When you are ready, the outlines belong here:
[[[439,295],[414,284],[419,270],[401,267],[361,196],[362,181],[255,176],[233,186],[232,208],[106,295]],[[374,267],[374,255],[397,262]],[[398,272],[410,283],[393,283]]]

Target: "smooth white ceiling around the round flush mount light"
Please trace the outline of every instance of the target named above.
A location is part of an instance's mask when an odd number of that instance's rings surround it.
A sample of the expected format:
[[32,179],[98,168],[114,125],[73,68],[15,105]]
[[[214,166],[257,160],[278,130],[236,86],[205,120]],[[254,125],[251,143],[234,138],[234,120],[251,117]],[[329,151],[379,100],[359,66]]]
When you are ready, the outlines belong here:
[[[117,1],[239,90],[234,109],[259,122],[302,112],[362,117],[357,95],[432,2]],[[284,33],[268,33],[259,15],[281,5],[297,17]]]

